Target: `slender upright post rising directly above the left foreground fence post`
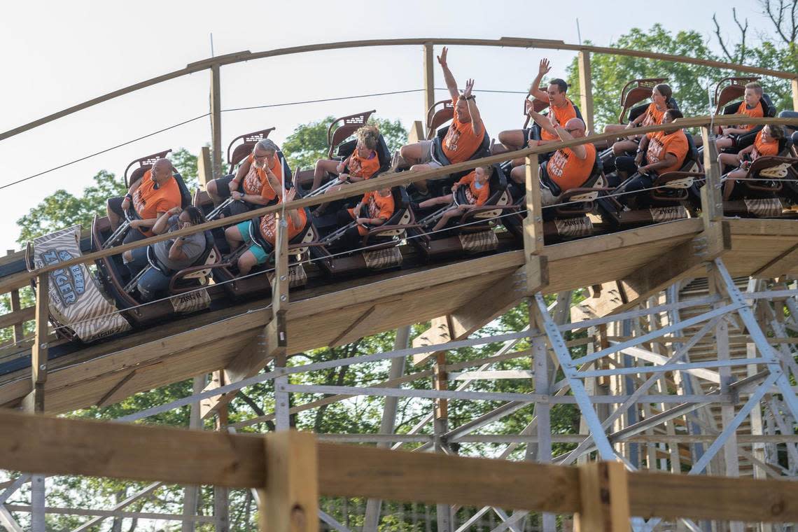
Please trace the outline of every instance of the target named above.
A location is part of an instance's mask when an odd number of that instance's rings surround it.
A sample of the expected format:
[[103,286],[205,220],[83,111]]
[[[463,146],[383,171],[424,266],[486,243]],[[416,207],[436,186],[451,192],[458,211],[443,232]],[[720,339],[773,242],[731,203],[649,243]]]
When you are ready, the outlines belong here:
[[[267,325],[267,344],[275,357],[275,369],[286,367],[286,312],[288,311],[288,223],[282,213],[275,213],[275,278],[271,285],[271,321]],[[288,384],[288,376],[275,378],[275,388]],[[275,425],[277,430],[290,428],[289,394],[275,391]],[[286,529],[287,530],[287,529]]]

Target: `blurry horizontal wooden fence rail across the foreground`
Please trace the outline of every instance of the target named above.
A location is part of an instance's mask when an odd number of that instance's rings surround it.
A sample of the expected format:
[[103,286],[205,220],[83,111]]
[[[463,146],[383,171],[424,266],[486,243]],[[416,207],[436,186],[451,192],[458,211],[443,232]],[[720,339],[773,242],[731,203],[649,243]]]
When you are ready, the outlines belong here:
[[[0,412],[0,433],[4,435],[0,467],[5,469],[239,488],[267,486],[274,473],[268,465],[268,450],[281,448],[269,442],[286,436],[285,432],[226,434],[8,411]],[[304,433],[302,437],[309,438]],[[556,513],[587,511],[584,475],[577,467],[332,443],[317,443],[315,448],[320,495]],[[302,456],[290,459],[302,460]],[[623,476],[632,515],[798,521],[798,483],[647,471]]]

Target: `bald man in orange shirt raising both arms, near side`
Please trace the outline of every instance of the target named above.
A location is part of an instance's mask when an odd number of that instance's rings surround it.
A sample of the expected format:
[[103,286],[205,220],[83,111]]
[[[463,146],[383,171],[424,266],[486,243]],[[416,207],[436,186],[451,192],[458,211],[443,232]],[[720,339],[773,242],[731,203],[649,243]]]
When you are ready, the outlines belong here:
[[[535,111],[530,111],[529,116],[543,131],[558,136],[563,142],[585,136],[585,123],[579,118],[571,118],[560,125],[556,116],[549,119]],[[595,160],[596,148],[591,142],[559,148],[545,164],[540,165],[541,203],[553,205],[564,191],[581,187],[591,176]],[[510,176],[516,183],[526,183],[526,167],[513,168]]]

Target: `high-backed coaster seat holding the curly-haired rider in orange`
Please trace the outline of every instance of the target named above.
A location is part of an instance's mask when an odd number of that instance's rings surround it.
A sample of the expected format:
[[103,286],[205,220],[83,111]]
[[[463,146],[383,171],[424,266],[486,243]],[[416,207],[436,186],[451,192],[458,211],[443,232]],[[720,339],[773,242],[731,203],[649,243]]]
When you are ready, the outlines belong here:
[[[372,115],[374,110],[358,112],[354,115],[342,116],[333,120],[330,127],[327,128],[327,158],[331,160],[345,160],[352,155],[354,148],[358,145],[357,139],[350,139],[355,132],[369,122],[369,116]],[[349,140],[348,140],[349,139]],[[380,159],[380,169],[374,173],[374,176],[381,174],[387,170],[391,164],[391,155],[388,151],[388,145],[385,144],[385,138],[380,135],[377,140],[377,157]],[[310,187],[313,185],[314,169],[300,170],[294,172],[294,188],[297,189],[299,197],[305,197],[310,194]],[[322,187],[328,183],[331,185],[331,179],[335,176],[328,174],[325,175]],[[319,188],[322,188],[319,187]],[[318,194],[319,192],[317,192]]]

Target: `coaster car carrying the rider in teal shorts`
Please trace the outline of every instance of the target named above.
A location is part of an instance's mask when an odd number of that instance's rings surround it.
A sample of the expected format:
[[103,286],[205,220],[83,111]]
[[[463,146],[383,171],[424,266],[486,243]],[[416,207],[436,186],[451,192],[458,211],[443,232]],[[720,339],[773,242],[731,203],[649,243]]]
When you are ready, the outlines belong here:
[[[307,282],[307,274],[305,268],[302,266],[303,259],[306,258],[309,246],[316,245],[318,242],[318,231],[312,223],[313,218],[310,211],[305,209],[305,215],[308,223],[305,230],[294,236],[288,241],[288,268],[289,268],[289,284],[290,288],[304,286]],[[267,257],[267,261],[252,268],[249,274],[239,277],[238,261],[239,254],[233,253],[228,255],[224,262],[213,266],[213,278],[215,282],[224,287],[224,290],[231,296],[231,298],[251,298],[257,295],[271,293],[271,281],[274,274],[270,271],[275,267],[275,251],[271,243],[263,239],[263,234],[260,232],[261,217],[256,216],[252,219],[250,224],[250,238],[253,242],[258,243],[265,249],[271,249],[271,253]],[[227,243],[221,248],[224,251],[229,251]],[[247,250],[247,246],[241,246],[240,251]]]

